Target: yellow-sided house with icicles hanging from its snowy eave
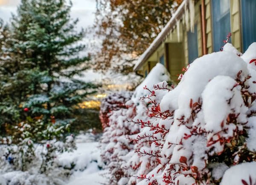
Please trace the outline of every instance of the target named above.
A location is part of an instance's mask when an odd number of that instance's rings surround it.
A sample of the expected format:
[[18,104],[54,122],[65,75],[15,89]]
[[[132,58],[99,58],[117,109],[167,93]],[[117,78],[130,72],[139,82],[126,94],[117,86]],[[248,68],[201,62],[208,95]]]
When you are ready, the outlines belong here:
[[134,71],[145,77],[162,63],[175,81],[196,58],[220,51],[228,33],[233,46],[246,51],[256,41],[255,8],[256,0],[183,0]]

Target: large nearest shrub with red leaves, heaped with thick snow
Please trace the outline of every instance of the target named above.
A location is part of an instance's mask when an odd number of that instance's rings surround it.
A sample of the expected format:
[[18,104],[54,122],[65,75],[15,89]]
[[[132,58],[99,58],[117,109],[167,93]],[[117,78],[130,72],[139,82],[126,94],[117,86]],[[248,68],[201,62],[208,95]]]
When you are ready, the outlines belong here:
[[[227,43],[184,71],[175,88],[160,81],[147,85],[145,79],[140,93],[134,92],[131,101],[143,98],[127,126],[140,129],[128,136],[134,150],[118,155],[126,178],[117,183],[255,183],[255,174],[238,171],[255,167],[256,161],[256,43],[244,54]],[[237,183],[229,183],[233,175]]]

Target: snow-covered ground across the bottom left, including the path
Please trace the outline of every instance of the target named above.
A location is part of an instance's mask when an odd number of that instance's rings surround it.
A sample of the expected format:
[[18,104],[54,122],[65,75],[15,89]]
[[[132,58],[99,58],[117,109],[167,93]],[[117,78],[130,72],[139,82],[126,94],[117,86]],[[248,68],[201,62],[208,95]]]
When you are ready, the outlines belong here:
[[[9,163],[1,163],[5,165],[0,165],[0,185],[101,185],[107,182],[107,171],[102,170],[97,142],[99,137],[99,134],[91,133],[78,135],[75,140],[76,149],[58,155],[56,168],[47,174],[36,172],[37,168],[29,168],[28,171],[11,170],[8,168]],[[65,172],[70,176],[63,175]]]

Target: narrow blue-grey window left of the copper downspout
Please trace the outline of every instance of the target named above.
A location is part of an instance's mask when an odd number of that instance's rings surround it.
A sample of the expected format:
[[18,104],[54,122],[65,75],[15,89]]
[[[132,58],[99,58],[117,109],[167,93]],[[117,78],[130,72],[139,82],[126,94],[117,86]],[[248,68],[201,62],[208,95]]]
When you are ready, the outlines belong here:
[[198,57],[198,37],[197,26],[195,25],[194,33],[187,32],[188,36],[188,50],[189,50],[189,64],[191,64]]

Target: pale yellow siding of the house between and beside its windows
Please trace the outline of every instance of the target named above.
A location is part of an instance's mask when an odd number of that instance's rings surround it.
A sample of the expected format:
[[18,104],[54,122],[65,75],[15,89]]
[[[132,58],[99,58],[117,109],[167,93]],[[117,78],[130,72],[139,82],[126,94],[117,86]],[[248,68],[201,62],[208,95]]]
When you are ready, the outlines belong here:
[[[207,53],[212,53],[212,0],[205,0],[205,20],[206,20],[206,47]],[[198,57],[201,57],[202,52],[202,35],[201,35],[201,0],[195,0],[195,24],[197,25],[197,37],[198,37]],[[232,44],[239,51],[241,51],[241,12],[240,12],[240,0],[230,0],[230,25],[232,33]],[[189,23],[190,27],[190,23]],[[157,48],[157,50],[148,58],[143,65],[143,74],[145,70],[148,72],[153,68],[156,63],[160,62],[160,57],[164,54],[165,66],[169,70],[172,80],[177,79],[177,74],[181,73],[181,69],[188,65],[188,38],[187,29],[185,25],[185,16],[180,19],[180,37],[177,34],[177,25],[169,31],[166,35],[163,43]],[[227,33],[228,34],[228,33]],[[223,38],[224,40],[225,38]],[[168,49],[166,49],[168,44]],[[176,44],[177,47],[175,47]],[[168,54],[166,52],[168,51]],[[180,60],[177,59],[177,53],[183,54]],[[169,61],[169,64],[167,62]],[[149,64],[148,64],[149,63]],[[175,64],[176,63],[176,64]]]

